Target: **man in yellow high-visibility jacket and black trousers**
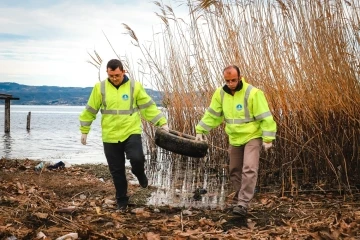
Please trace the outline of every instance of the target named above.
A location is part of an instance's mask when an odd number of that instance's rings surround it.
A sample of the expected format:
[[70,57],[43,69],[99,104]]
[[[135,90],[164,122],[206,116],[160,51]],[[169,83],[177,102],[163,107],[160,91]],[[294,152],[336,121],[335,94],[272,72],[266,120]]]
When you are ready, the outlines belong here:
[[108,78],[94,86],[86,108],[80,114],[81,143],[86,144],[90,126],[100,110],[104,152],[116,189],[118,209],[124,210],[129,199],[125,154],[130,159],[131,171],[140,186],[148,186],[141,140],[141,116],[166,131],[169,131],[169,127],[167,119],[141,83],[125,75],[118,59],[110,60],[106,69]]

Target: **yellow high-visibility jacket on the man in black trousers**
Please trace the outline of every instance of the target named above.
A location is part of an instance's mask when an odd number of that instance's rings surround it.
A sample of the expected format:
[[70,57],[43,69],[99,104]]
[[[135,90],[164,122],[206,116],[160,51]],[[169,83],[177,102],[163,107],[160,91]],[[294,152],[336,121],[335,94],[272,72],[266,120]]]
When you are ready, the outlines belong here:
[[123,142],[131,134],[141,134],[140,114],[155,126],[167,123],[141,83],[130,79],[118,89],[108,79],[94,86],[79,117],[81,133],[89,133],[99,110],[102,114],[102,140],[106,143]]

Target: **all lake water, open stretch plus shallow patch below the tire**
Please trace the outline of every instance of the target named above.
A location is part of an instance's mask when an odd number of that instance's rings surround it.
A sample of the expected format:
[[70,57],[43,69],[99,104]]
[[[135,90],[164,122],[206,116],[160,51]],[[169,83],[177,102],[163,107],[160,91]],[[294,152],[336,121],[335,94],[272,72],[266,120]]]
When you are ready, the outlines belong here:
[[[2,131],[0,157],[34,159],[68,164],[104,163],[99,114],[91,126],[87,145],[80,143],[79,114],[84,106],[11,105],[10,133],[4,133],[5,107],[0,106]],[[31,112],[31,127],[26,130]],[[217,207],[224,206],[228,180],[222,170],[211,172],[204,159],[171,160],[158,148],[157,159],[147,156],[149,182],[158,189],[148,199],[151,205]],[[129,165],[129,162],[127,161]],[[136,181],[137,182],[137,181]],[[136,183],[135,182],[135,183]],[[195,201],[194,191],[206,189],[207,194]]]

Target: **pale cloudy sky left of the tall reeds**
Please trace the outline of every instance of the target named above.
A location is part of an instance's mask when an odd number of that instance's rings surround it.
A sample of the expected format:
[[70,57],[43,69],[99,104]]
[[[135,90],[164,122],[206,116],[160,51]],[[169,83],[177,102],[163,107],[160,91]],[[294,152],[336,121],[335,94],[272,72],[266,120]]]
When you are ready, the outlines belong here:
[[122,23],[145,43],[161,25],[155,12],[159,7],[147,0],[1,0],[0,82],[92,87],[98,70],[88,53],[96,50],[104,62],[116,58],[104,33],[120,56],[136,61],[140,50]]

